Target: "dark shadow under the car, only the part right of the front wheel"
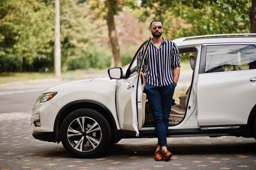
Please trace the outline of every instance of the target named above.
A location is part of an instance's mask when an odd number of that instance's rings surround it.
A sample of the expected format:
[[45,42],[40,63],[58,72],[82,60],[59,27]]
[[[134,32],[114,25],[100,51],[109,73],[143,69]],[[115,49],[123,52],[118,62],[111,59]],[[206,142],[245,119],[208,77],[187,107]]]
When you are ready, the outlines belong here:
[[[114,144],[104,155],[152,155],[155,148],[155,144]],[[240,144],[227,142],[224,144],[168,144],[168,150],[175,155],[249,154],[256,156],[256,141]]]

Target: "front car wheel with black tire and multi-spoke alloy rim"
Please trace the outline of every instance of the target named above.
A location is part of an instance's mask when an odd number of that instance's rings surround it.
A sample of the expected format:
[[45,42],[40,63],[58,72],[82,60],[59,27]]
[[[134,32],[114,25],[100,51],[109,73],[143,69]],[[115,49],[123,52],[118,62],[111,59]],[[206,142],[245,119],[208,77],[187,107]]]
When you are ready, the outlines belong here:
[[96,110],[82,108],[70,113],[61,125],[61,142],[75,157],[94,158],[106,151],[111,141],[108,120]]

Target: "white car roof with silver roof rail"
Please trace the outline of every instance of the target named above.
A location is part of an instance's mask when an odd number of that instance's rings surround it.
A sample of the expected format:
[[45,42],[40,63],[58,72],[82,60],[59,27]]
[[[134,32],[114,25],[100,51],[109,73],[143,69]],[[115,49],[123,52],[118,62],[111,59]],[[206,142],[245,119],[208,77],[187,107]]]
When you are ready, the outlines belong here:
[[172,40],[177,46],[216,43],[256,43],[256,33],[213,34],[184,37]]

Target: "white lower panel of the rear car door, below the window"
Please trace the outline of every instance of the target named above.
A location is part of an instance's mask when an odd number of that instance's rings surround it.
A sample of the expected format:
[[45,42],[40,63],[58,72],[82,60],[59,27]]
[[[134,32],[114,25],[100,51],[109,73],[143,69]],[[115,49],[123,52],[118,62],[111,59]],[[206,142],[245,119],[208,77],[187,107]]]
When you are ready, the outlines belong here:
[[253,71],[201,74],[198,79],[198,123],[204,125],[247,124],[256,104]]

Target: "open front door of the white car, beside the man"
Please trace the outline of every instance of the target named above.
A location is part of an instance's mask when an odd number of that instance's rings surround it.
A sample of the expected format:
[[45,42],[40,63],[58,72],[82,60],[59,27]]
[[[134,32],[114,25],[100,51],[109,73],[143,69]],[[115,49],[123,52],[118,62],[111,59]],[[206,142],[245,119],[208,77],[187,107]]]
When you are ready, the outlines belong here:
[[[139,129],[142,128],[145,120],[146,94],[143,93],[143,78],[141,76],[141,65],[145,52],[148,49],[149,38],[132,59],[122,78],[117,80],[116,85],[116,109],[119,126],[123,133],[139,136]],[[137,58],[141,55],[141,62],[137,67]],[[110,76],[111,77],[111,76]],[[117,78],[119,74],[117,74]]]

